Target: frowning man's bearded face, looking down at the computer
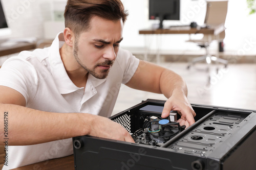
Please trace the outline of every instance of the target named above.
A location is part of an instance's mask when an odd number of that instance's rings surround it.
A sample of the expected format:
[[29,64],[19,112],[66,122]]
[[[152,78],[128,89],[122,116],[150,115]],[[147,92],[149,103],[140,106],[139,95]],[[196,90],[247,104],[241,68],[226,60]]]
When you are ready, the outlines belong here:
[[109,74],[122,41],[123,22],[94,16],[90,29],[75,39],[74,57],[78,64],[97,79]]

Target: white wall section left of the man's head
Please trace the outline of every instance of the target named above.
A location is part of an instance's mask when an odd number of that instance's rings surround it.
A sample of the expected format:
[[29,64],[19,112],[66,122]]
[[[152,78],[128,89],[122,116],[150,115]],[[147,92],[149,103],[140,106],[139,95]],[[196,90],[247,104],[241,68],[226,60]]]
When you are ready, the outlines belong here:
[[[53,0],[1,1],[8,26],[12,30],[10,37],[44,38],[44,22],[53,20]],[[58,1],[66,3],[65,0]]]

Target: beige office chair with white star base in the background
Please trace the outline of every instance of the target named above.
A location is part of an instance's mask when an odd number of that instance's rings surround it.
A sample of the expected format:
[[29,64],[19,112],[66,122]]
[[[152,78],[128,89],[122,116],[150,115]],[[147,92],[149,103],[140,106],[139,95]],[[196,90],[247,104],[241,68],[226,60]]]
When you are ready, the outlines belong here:
[[[212,41],[217,40],[218,44],[220,41],[223,41],[225,38],[225,20],[227,15],[227,2],[228,1],[207,1],[207,9],[206,9],[206,15],[204,20],[204,27],[207,28],[217,28],[214,34],[204,34],[204,37],[199,40],[188,40],[188,42],[195,42],[200,47],[205,48],[205,55],[201,57],[197,57],[193,59],[191,62],[188,63],[187,69],[190,68],[191,65],[194,65],[195,63],[206,61],[208,64],[207,70],[209,70],[209,64],[212,61],[215,61],[217,63],[224,64],[225,67],[227,67],[228,61],[221,59],[219,57],[211,56],[209,54],[209,45]],[[218,73],[217,68],[217,73]]]

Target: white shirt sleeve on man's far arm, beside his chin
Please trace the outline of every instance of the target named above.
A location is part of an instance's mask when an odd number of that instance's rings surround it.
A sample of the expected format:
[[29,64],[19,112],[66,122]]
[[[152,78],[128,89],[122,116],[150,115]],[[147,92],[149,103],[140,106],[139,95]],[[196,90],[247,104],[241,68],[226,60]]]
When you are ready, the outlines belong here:
[[131,52],[120,48],[117,55],[117,62],[119,63],[120,67],[123,69],[122,83],[126,84],[131,80],[131,78],[135,74],[135,71],[139,66],[140,60],[135,56],[133,56]]

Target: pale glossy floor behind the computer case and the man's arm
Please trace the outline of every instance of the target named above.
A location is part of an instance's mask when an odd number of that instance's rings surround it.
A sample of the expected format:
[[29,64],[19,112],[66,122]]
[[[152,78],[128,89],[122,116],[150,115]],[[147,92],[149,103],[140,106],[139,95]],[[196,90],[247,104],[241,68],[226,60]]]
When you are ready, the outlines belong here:
[[[214,105],[241,109],[256,110],[256,63],[229,64],[227,68],[196,64],[186,69],[187,63],[159,63],[181,75],[187,83],[188,100],[193,104]],[[211,80],[208,82],[208,75]],[[128,109],[142,100],[166,100],[162,94],[154,94],[121,86],[113,111],[116,114]]]

